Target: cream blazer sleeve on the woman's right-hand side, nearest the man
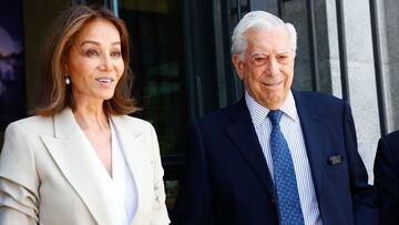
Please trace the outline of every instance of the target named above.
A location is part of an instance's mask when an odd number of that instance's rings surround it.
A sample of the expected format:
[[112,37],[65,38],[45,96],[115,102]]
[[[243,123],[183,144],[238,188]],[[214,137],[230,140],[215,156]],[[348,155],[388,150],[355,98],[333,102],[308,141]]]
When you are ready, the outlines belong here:
[[162,168],[162,161],[160,154],[160,146],[156,137],[156,133],[153,126],[151,126],[151,139],[152,139],[152,158],[153,158],[153,171],[154,171],[154,206],[151,217],[151,225],[165,225],[170,224],[167,216],[167,209],[165,205],[165,187],[163,183],[164,171]]

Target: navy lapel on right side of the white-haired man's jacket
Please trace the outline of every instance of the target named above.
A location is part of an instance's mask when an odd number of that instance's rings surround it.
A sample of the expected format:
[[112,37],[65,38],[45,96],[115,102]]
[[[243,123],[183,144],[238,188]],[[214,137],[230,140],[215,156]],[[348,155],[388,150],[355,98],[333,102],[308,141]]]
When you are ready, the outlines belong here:
[[[318,201],[320,201],[320,190],[323,190],[323,171],[325,166],[324,141],[325,134],[323,127],[324,113],[308,102],[299,92],[294,92],[295,103],[300,120],[301,130],[309,158],[313,181]],[[320,205],[320,202],[319,202]]]

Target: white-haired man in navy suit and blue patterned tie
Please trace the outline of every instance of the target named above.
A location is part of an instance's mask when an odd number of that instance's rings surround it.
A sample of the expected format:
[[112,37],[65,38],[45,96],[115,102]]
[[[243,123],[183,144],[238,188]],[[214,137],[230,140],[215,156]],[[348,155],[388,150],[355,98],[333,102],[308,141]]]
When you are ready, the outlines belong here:
[[194,124],[174,224],[375,224],[350,108],[290,90],[294,27],[255,11],[232,40],[245,96]]

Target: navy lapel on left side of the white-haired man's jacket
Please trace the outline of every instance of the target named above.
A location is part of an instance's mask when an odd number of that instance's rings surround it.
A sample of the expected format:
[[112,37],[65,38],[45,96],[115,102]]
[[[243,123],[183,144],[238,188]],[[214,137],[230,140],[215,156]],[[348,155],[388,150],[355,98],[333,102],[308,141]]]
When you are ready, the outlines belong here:
[[234,122],[227,126],[227,133],[232,141],[238,146],[239,152],[246,158],[248,164],[259,176],[262,183],[268,190],[272,198],[275,198],[274,184],[270,172],[267,167],[256,131],[250,120],[249,111],[245,100],[242,99],[234,108],[231,114]]

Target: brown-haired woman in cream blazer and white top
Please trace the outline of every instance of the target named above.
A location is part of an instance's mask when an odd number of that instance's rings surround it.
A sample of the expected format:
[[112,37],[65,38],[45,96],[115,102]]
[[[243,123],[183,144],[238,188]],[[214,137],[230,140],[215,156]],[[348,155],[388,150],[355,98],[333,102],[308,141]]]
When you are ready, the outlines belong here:
[[44,104],[6,130],[0,224],[168,224],[155,131],[126,116],[123,21],[72,7],[47,43]]

